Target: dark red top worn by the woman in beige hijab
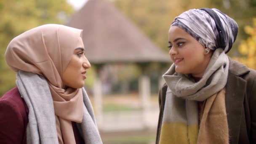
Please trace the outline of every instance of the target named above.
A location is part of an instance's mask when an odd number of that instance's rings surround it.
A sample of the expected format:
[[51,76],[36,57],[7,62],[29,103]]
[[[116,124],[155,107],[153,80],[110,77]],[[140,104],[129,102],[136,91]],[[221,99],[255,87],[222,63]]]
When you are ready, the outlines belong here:
[[[18,88],[13,88],[0,99],[0,144],[27,144],[27,104]],[[76,144],[84,144],[76,123],[72,122]]]

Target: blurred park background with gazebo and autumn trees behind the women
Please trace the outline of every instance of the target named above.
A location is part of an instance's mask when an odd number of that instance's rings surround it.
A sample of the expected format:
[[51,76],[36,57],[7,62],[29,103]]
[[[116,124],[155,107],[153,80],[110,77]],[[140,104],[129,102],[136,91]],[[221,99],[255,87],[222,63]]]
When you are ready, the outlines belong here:
[[8,43],[42,24],[83,29],[85,80],[104,144],[153,144],[158,91],[170,67],[168,29],[192,8],[218,8],[237,21],[228,55],[256,69],[256,0],[0,0],[0,97],[15,87]]

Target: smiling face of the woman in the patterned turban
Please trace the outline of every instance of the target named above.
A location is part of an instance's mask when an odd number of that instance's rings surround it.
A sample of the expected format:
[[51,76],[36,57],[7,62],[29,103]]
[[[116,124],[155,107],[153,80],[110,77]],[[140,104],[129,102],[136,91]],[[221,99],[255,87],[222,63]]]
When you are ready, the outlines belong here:
[[169,45],[169,54],[175,64],[176,72],[203,77],[211,59],[211,52],[205,53],[202,44],[177,26],[171,26],[169,29]]

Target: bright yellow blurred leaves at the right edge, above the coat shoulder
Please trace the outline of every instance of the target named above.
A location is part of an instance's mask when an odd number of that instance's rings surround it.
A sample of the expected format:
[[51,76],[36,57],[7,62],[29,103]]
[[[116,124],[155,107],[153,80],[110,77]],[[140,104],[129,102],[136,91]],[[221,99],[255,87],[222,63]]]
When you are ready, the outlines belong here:
[[256,69],[256,18],[253,19],[253,26],[245,26],[244,30],[249,37],[243,40],[238,47],[242,56],[235,59],[252,69]]

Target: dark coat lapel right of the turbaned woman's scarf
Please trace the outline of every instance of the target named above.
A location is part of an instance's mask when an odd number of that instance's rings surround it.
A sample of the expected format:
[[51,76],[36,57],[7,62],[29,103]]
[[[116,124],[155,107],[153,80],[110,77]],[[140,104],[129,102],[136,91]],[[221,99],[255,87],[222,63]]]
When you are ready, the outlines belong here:
[[226,85],[226,111],[231,144],[237,144],[240,133],[240,123],[243,101],[246,91],[246,81],[240,77],[250,72],[248,67],[229,58],[229,75]]

